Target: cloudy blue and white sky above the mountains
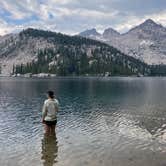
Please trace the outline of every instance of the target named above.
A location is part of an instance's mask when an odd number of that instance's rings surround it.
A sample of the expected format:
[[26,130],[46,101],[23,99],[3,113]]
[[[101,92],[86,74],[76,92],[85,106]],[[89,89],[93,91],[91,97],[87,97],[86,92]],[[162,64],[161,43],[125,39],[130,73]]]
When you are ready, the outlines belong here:
[[77,34],[123,33],[146,19],[166,26],[166,0],[0,0],[0,35],[28,27]]

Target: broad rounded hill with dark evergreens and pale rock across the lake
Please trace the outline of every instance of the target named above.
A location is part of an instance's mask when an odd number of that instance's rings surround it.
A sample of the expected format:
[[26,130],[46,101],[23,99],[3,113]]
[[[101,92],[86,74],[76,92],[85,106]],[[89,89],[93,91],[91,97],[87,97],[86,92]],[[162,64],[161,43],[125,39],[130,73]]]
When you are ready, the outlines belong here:
[[0,40],[2,74],[142,75],[149,67],[106,43],[61,33],[26,29]]

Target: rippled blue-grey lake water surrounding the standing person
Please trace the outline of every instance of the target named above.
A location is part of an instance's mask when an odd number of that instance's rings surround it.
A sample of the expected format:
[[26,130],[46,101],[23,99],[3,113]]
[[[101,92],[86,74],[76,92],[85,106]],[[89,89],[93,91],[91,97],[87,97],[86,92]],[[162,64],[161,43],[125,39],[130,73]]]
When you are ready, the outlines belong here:
[[[41,107],[60,101],[56,137]],[[166,166],[166,78],[0,78],[0,166]]]

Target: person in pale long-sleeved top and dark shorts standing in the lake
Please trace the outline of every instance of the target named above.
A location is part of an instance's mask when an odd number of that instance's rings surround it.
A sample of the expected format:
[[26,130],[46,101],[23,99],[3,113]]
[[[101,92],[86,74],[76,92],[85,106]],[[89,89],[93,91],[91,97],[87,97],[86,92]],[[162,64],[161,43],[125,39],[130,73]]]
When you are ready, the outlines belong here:
[[54,98],[53,91],[48,91],[47,97],[48,99],[44,101],[42,110],[42,123],[44,124],[46,135],[55,135],[59,102]]

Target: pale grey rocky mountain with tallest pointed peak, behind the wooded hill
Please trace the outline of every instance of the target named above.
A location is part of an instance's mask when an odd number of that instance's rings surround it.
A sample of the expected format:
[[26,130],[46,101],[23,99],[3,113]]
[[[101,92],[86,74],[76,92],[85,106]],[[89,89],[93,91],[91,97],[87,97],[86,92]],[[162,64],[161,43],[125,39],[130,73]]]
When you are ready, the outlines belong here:
[[[113,31],[117,32],[114,29]],[[112,45],[121,52],[150,65],[166,64],[166,28],[152,19],[145,20],[123,34],[112,34],[109,37],[101,34],[100,37],[92,38]]]

